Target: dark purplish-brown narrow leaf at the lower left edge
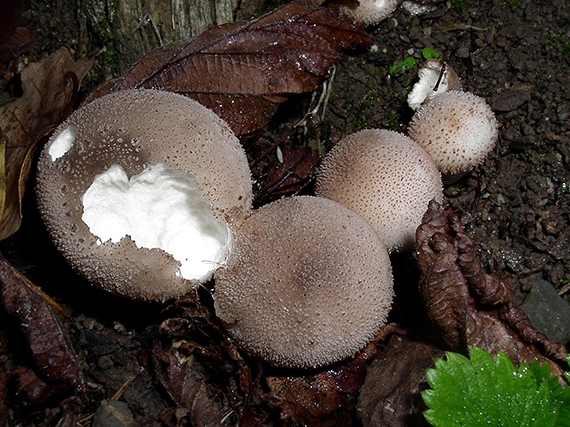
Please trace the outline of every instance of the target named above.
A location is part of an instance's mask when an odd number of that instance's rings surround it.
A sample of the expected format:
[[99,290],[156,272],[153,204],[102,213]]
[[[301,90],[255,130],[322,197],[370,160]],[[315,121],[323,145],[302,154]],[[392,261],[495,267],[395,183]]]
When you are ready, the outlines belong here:
[[22,372],[27,381],[47,381],[46,387],[66,387],[85,393],[85,378],[66,331],[52,307],[19,271],[0,256],[0,296],[7,313],[15,317],[27,338],[37,366],[36,374]]

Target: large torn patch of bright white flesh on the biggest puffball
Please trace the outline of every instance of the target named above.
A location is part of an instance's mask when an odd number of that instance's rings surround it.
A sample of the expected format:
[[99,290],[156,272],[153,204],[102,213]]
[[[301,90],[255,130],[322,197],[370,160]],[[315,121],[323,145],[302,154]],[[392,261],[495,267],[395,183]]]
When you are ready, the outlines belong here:
[[95,177],[82,201],[82,219],[101,242],[128,235],[140,248],[162,249],[188,280],[207,280],[232,244],[228,225],[214,217],[194,177],[164,163],[131,179],[113,165]]

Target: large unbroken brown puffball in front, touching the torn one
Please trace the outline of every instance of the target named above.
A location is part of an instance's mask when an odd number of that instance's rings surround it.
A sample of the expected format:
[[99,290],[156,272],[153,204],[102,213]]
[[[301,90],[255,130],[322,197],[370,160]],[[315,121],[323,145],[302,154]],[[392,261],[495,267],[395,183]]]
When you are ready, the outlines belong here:
[[250,354],[285,368],[355,355],[386,322],[393,296],[384,245],[360,216],[320,197],[255,211],[216,272],[217,315]]

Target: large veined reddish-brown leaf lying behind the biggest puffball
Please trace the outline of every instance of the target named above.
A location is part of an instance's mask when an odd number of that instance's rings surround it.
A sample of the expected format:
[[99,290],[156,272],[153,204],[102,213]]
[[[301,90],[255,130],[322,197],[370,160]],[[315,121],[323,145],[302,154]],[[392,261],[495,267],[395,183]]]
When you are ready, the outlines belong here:
[[156,88],[196,99],[238,135],[264,126],[288,95],[313,90],[340,50],[371,39],[335,6],[289,3],[250,23],[212,28],[142,58],[115,90]]

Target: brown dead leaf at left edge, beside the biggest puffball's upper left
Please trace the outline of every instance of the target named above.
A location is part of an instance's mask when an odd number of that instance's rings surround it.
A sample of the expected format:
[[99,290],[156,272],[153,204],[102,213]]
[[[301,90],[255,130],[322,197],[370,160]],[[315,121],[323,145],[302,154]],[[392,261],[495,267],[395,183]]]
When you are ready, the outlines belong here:
[[34,148],[70,112],[93,61],[61,47],[21,71],[22,96],[0,106],[0,240],[20,227]]

